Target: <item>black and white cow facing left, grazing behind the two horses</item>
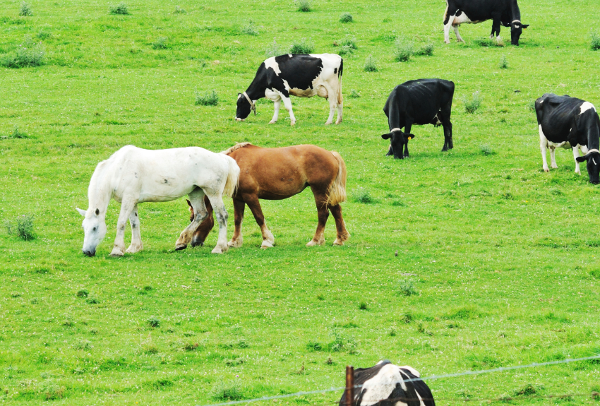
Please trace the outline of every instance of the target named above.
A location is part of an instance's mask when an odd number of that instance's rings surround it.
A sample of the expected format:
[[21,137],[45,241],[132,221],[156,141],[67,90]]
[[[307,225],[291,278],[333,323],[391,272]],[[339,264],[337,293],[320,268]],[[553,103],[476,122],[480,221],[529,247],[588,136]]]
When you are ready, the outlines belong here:
[[258,67],[256,76],[244,93],[237,97],[236,120],[244,121],[251,110],[256,115],[256,100],[267,97],[275,102],[275,114],[269,124],[277,121],[279,109],[283,105],[289,112],[292,126],[296,117],[292,112],[290,95],[313,97],[318,95],[329,100],[329,118],[325,124],[331,124],[337,107],[337,121],[342,122],[342,71],[344,60],[335,54],[287,54],[272,56]]

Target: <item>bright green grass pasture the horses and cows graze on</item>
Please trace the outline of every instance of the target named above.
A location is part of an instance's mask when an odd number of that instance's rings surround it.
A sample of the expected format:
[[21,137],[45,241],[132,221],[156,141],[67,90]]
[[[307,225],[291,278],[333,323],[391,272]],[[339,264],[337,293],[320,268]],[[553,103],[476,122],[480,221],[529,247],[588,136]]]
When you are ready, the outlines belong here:
[[[97,1],[28,4],[33,15],[18,16],[21,1],[0,0],[0,61],[33,43],[45,56],[0,68],[0,221],[33,215],[36,234],[0,230],[2,404],[205,405],[343,386],[347,364],[384,358],[428,376],[600,354],[599,186],[585,165],[574,174],[570,150],[542,171],[532,110],[544,92],[600,105],[596,0],[520,1],[531,24],[520,47],[481,46],[491,22],[463,25],[467,44],[453,32],[443,44],[443,0],[315,0],[309,13],[292,1],[128,0],[128,15]],[[340,23],[343,12],[354,22]],[[265,100],[256,117],[233,120],[274,39],[281,53],[303,39],[336,53],[347,35],[357,49],[344,56],[342,124],[323,125],[318,97],[292,99],[295,127],[284,109],[268,125]],[[397,38],[433,43],[433,56],[397,63]],[[378,71],[363,70],[368,56]],[[383,105],[414,78],[455,82],[455,149],[440,152],[442,129],[414,126],[411,157],[392,160]],[[217,106],[194,104],[212,90]],[[476,91],[483,104],[467,114],[462,99]],[[109,257],[112,202],[97,256],[83,256],[75,208],[87,208],[97,162],[128,144],[220,151],[241,141],[341,153],[347,244],[331,246],[330,217],[327,245],[305,246],[316,210],[304,191],[263,201],[272,249],[259,248],[246,210],[241,249],[212,255],[212,232],[203,249],[174,251],[188,224],[181,199],[140,205],[144,251],[123,258]],[[371,203],[352,197],[366,193]],[[428,385],[439,405],[598,405],[600,362]],[[583,396],[535,398],[563,394]]]

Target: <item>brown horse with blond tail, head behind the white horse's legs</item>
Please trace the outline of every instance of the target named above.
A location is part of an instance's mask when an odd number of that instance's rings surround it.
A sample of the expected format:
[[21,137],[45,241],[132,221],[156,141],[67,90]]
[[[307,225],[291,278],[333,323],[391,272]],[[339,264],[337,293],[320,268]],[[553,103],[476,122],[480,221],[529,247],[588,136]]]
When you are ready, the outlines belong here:
[[[346,201],[346,164],[340,154],[315,145],[260,148],[251,143],[239,143],[223,153],[234,158],[240,167],[239,186],[233,196],[235,232],[229,246],[237,248],[243,242],[241,222],[244,220],[244,208],[248,205],[263,233],[262,248],[272,247],[274,237],[267,228],[259,199],[289,198],[306,189],[306,186],[313,191],[318,213],[315,237],[306,245],[325,244],[323,231],[329,212],[337,228],[337,238],[333,244],[343,245],[349,239],[340,207],[340,203]],[[215,224],[210,201],[205,199],[205,205],[208,217],[196,229],[192,246],[204,245],[206,236]],[[191,206],[190,211],[190,218],[193,219]],[[184,248],[186,246],[178,249]]]

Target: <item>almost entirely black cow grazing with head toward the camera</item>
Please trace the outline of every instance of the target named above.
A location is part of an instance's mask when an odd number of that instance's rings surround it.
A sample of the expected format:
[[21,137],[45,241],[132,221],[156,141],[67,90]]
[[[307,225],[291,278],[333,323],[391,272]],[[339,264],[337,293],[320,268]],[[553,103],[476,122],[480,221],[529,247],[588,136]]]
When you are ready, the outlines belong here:
[[[443,79],[418,79],[397,85],[385,102],[383,112],[388,116],[390,133],[381,138],[390,140],[388,155],[403,159],[408,155],[408,141],[413,124],[444,127],[443,151],[454,148],[452,144],[452,97],[454,82]],[[401,129],[404,129],[402,131]],[[404,148],[404,152],[403,152]]]

